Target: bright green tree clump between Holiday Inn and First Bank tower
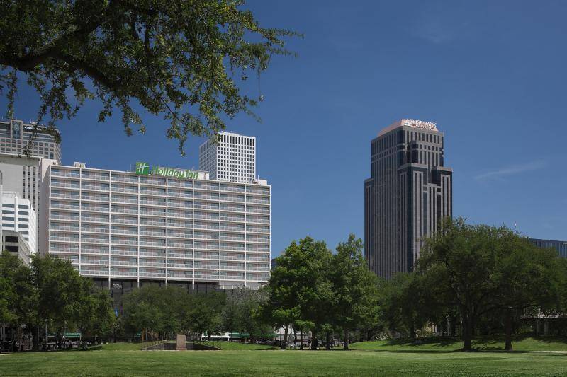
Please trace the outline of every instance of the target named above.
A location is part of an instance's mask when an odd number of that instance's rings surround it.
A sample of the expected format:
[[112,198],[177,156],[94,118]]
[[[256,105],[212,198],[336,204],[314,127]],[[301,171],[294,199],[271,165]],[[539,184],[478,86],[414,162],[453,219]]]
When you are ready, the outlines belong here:
[[378,279],[362,256],[362,241],[350,235],[336,255],[310,237],[292,242],[276,258],[262,310],[272,325],[310,330],[312,347],[318,332],[340,329],[348,338],[349,330],[375,328]]

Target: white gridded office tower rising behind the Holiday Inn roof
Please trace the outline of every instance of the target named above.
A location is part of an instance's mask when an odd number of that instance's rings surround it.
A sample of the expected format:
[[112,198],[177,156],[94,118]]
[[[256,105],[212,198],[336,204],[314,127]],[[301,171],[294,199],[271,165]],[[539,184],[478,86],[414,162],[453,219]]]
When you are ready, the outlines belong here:
[[199,146],[199,170],[211,180],[249,183],[256,179],[256,138],[219,132]]

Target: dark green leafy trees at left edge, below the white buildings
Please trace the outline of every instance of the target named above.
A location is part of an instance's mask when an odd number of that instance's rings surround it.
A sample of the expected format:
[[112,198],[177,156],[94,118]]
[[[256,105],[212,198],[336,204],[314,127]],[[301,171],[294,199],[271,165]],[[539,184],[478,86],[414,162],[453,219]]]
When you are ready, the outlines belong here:
[[[71,263],[34,255],[28,267],[8,252],[0,257],[0,322],[33,335],[48,325],[61,339],[64,330],[101,336],[111,328],[108,291],[97,291]],[[34,347],[38,339],[34,337]]]

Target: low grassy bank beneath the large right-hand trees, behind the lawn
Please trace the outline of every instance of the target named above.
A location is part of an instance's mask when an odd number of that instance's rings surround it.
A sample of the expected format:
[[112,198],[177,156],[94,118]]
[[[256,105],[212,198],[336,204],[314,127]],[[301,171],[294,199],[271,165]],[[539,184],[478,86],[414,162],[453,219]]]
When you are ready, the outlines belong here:
[[[424,339],[378,340],[350,344],[351,349],[360,351],[458,351],[463,341],[458,338],[430,337]],[[478,338],[473,340],[473,348],[481,351],[501,351],[504,337]],[[567,351],[567,337],[515,337],[512,340],[514,351]]]

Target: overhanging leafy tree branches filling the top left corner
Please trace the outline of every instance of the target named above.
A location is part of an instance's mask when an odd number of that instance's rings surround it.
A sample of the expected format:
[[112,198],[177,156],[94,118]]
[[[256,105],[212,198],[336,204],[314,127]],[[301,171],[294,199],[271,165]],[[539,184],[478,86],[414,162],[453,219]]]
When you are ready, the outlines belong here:
[[[239,81],[290,54],[287,30],[262,28],[244,1],[5,1],[0,13],[0,89],[8,117],[24,76],[41,99],[38,121],[54,126],[90,98],[99,122],[116,108],[128,135],[145,132],[135,108],[169,122],[167,137],[213,134],[223,118],[252,114],[263,96]],[[69,98],[72,96],[73,98]]]

